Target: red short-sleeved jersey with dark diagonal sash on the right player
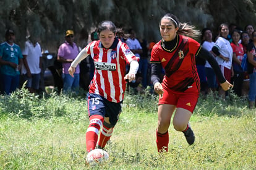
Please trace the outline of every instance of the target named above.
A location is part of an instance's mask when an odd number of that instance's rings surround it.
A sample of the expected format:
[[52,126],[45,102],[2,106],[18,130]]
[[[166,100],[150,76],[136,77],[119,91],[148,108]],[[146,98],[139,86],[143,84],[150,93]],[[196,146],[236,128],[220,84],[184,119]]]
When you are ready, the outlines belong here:
[[164,40],[153,46],[151,63],[161,63],[165,70],[163,88],[177,93],[199,93],[200,80],[195,65],[195,56],[201,49],[200,43],[192,38],[177,35],[173,49],[166,47]]

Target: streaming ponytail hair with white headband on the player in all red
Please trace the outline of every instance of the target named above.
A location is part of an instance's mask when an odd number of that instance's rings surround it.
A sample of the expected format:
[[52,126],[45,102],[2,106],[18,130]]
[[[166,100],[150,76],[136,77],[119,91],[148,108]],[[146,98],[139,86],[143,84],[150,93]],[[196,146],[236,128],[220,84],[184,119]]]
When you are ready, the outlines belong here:
[[[165,14],[161,18],[161,20],[163,18],[171,20],[171,22],[174,23],[175,28],[177,28],[177,27],[179,28],[179,30],[177,30],[177,34],[185,35],[185,36],[190,36],[192,38],[197,38],[197,36],[200,35],[200,32],[198,30],[195,30],[195,26],[194,25],[190,25],[189,23],[181,23],[181,22],[179,22],[179,20],[177,19],[176,15],[168,13],[168,14]],[[161,25],[161,20],[160,20],[160,23],[159,23],[159,27]]]

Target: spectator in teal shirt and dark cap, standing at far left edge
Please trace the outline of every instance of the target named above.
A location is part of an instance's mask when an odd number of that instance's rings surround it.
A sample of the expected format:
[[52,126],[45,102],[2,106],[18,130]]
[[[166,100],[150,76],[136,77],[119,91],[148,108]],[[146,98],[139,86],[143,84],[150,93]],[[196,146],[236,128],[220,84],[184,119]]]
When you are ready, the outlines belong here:
[[0,45],[1,91],[9,95],[19,87],[22,52],[14,43],[14,30],[6,31],[6,41]]

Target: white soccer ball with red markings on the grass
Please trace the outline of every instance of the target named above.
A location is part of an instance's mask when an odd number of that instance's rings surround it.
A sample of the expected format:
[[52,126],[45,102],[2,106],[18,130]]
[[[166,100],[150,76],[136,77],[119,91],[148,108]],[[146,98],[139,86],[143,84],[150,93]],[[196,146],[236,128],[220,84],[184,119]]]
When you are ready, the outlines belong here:
[[102,149],[95,149],[88,153],[88,155],[86,156],[86,162],[91,166],[95,166],[96,164],[108,160],[108,158],[108,152]]

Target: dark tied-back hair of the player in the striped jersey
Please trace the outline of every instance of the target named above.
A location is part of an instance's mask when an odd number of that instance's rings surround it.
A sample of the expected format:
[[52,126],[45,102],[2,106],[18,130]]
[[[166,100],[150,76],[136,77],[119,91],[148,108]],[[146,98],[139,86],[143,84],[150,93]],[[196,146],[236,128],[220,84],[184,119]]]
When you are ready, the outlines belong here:
[[116,25],[114,25],[114,23],[110,20],[104,20],[100,22],[97,28],[98,35],[100,35],[103,30],[109,30],[113,32],[116,34],[117,38],[129,38],[129,35],[124,34],[122,28],[116,28]]

